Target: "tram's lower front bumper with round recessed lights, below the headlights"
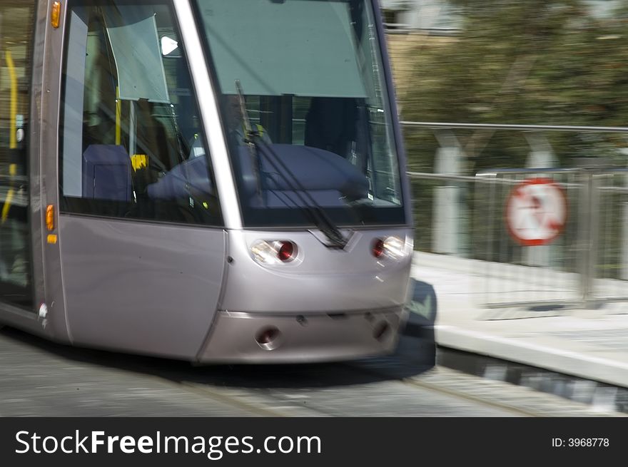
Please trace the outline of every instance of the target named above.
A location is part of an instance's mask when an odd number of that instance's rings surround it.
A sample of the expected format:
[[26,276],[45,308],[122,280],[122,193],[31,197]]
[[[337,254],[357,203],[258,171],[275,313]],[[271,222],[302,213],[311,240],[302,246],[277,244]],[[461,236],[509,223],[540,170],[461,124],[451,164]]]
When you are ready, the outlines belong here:
[[218,312],[201,363],[339,361],[395,351],[401,307],[327,314]]

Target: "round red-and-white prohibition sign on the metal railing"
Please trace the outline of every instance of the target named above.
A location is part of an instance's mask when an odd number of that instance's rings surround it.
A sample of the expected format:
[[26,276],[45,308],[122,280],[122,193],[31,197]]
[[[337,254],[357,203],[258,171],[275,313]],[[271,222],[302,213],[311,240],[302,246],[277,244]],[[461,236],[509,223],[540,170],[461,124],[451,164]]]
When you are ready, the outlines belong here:
[[547,245],[567,222],[567,198],[550,178],[528,178],[513,188],[506,202],[506,225],[521,245]]

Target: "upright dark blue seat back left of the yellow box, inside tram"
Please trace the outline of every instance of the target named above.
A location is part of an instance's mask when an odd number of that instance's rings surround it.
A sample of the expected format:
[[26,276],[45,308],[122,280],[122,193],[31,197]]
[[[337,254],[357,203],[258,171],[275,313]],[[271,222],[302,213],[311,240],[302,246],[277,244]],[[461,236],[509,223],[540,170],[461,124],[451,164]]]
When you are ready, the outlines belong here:
[[83,197],[131,201],[131,170],[123,146],[88,145],[83,153]]

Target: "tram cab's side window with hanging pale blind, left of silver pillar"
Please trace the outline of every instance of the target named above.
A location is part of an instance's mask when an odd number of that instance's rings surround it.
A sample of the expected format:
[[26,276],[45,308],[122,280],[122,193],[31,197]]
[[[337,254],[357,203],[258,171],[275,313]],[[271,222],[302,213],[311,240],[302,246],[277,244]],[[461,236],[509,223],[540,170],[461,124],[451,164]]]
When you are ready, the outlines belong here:
[[62,210],[221,225],[170,6],[78,1],[68,21]]

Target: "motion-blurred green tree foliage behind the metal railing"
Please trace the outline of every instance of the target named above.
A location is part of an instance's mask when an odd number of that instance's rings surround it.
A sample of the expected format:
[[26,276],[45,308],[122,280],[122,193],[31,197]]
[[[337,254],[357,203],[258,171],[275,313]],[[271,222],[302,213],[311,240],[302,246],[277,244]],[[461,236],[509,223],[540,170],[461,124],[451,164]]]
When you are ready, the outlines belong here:
[[[404,120],[627,126],[628,0],[612,16],[581,0],[450,0],[465,18],[448,41],[407,50],[410,81],[398,98]],[[431,171],[431,130],[406,128],[410,168]],[[467,173],[522,167],[530,146],[512,131],[457,130]],[[547,133],[562,166],[604,155],[625,165],[624,134]]]

